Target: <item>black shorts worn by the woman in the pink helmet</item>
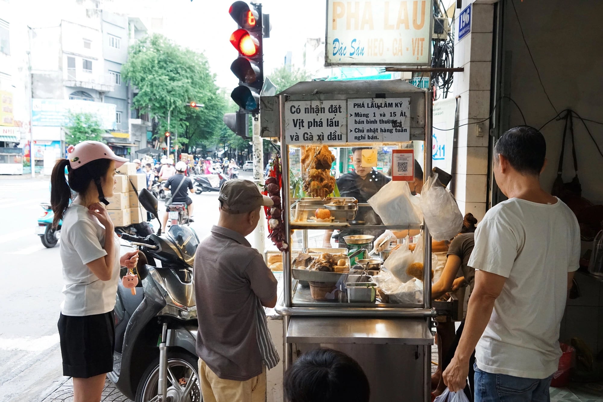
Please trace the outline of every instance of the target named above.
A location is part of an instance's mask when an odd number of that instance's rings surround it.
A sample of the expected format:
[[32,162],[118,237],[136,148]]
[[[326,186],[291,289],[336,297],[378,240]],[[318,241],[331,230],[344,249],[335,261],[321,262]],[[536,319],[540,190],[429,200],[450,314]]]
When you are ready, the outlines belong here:
[[61,316],[58,336],[61,340],[63,375],[89,378],[113,371],[115,321],[113,311],[92,316]]

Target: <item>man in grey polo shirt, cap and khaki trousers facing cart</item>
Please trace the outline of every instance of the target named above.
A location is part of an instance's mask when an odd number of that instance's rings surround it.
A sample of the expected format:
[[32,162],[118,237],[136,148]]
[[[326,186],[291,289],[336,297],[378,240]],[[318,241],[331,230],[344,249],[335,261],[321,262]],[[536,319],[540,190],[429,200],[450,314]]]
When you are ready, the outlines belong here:
[[218,225],[197,247],[197,354],[205,402],[264,402],[266,367],[279,361],[263,307],[276,305],[277,281],[245,236],[256,228],[262,196],[249,180],[228,180]]

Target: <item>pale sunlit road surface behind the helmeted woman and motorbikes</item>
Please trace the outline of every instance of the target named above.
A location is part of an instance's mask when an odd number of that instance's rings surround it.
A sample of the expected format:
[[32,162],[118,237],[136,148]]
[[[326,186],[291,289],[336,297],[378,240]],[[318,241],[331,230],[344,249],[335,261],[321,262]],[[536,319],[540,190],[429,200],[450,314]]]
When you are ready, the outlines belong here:
[[[251,179],[251,173],[241,173]],[[0,176],[0,402],[41,401],[68,380],[62,376],[57,333],[63,286],[59,247],[46,249],[34,234],[39,203],[50,199],[49,178],[23,177]],[[191,227],[203,239],[218,220],[218,193],[191,197]],[[159,226],[156,220],[152,224]],[[122,400],[115,392],[110,400]]]

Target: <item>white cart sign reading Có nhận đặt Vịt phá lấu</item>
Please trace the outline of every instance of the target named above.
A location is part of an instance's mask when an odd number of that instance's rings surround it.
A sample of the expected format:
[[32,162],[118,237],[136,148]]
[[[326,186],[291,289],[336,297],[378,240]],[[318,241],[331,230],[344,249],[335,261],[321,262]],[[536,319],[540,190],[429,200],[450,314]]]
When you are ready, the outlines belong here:
[[347,141],[346,101],[285,102],[287,144],[341,144]]

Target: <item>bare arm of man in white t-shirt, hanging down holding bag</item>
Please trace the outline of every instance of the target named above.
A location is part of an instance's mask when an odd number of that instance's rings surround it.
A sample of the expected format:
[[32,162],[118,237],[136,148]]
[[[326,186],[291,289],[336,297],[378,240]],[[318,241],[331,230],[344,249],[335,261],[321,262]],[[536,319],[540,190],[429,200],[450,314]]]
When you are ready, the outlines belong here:
[[494,302],[502,292],[506,279],[496,273],[475,271],[475,286],[469,298],[463,335],[458,342],[454,358],[443,374],[444,384],[450,391],[456,392],[464,388],[469,374],[469,358],[490,321]]

